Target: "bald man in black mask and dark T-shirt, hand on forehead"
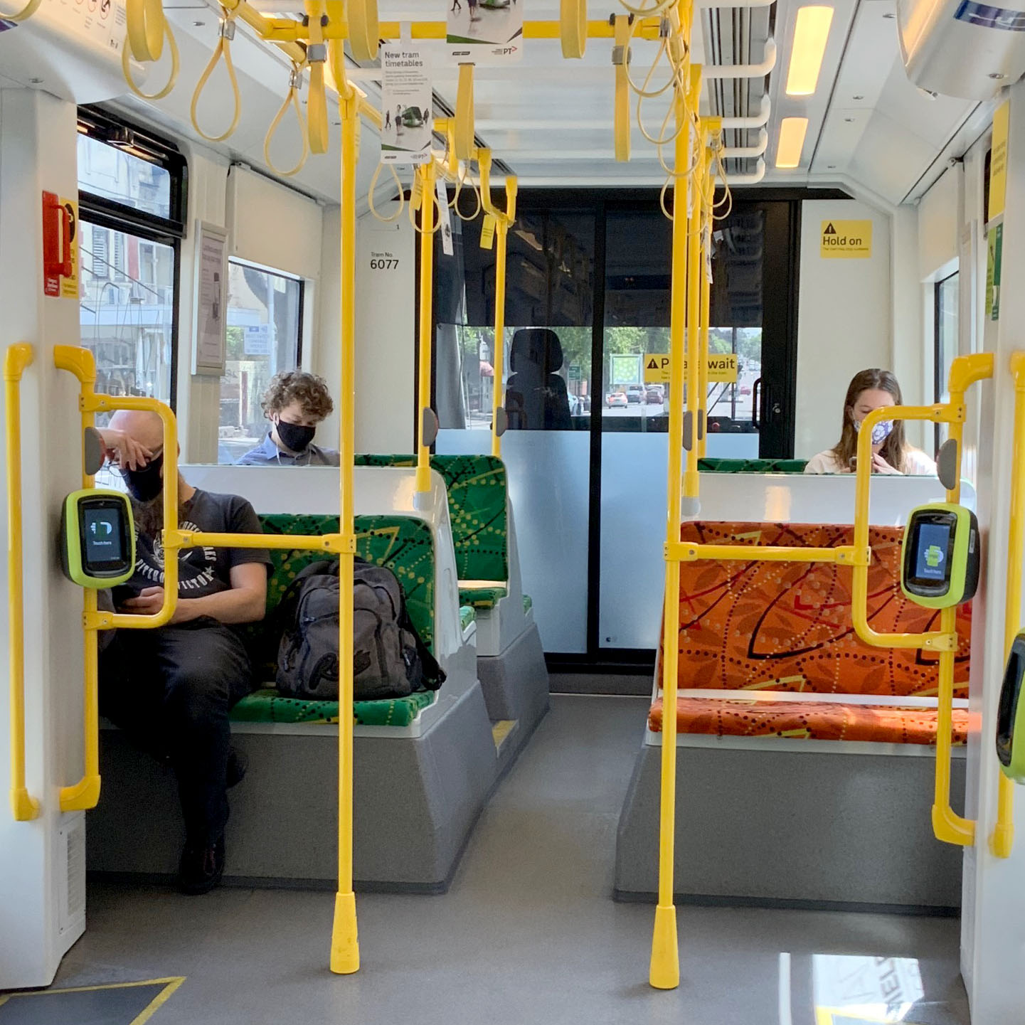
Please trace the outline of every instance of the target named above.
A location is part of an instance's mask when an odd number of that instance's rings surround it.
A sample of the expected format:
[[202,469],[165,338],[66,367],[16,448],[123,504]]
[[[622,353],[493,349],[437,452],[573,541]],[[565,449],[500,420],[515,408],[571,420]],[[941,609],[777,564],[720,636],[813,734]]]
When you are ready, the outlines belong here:
[[[116,588],[115,603],[120,612],[153,615],[164,600],[161,420],[156,413],[121,411],[100,433],[135,518],[135,574]],[[187,530],[260,533],[244,498],[200,491],[180,476],[178,523]],[[170,623],[118,630],[101,653],[100,710],[167,757],[177,776],[184,893],[206,893],[224,869],[227,790],[245,771],[231,747],[228,713],[253,689],[249,656],[233,627],[263,618],[270,565],[262,548],[183,549]]]

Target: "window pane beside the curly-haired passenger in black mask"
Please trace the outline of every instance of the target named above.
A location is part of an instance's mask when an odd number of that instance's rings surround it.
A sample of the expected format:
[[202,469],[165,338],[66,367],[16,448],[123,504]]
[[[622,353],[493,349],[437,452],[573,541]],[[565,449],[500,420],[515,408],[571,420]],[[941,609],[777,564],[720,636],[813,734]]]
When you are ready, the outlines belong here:
[[299,366],[302,281],[231,260],[228,359],[220,378],[217,461],[235,462],[266,432],[260,400],[279,370]]

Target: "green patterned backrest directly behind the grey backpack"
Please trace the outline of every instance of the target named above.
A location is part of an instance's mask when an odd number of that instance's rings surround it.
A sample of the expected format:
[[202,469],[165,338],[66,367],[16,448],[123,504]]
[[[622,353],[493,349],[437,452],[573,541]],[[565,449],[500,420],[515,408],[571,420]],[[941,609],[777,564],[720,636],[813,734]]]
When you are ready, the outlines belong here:
[[[338,517],[295,514],[260,516],[264,534],[332,534]],[[402,584],[409,618],[420,640],[434,651],[435,547],[429,525],[399,516],[356,517],[356,554],[369,563],[386,566]],[[268,614],[277,608],[295,575],[312,562],[329,558],[324,552],[295,548],[272,549],[274,569],[268,582]]]

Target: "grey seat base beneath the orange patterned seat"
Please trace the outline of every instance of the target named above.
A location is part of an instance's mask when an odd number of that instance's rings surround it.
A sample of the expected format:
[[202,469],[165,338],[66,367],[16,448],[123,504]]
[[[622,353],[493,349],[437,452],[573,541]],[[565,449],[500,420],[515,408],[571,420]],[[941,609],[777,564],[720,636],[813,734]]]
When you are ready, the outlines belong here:
[[[745,750],[725,739],[676,749],[676,899],[927,913],[959,906],[961,852],[933,835],[927,752]],[[658,891],[661,756],[648,744],[638,755],[616,837],[617,900]],[[955,757],[951,792],[963,790],[965,760]]]

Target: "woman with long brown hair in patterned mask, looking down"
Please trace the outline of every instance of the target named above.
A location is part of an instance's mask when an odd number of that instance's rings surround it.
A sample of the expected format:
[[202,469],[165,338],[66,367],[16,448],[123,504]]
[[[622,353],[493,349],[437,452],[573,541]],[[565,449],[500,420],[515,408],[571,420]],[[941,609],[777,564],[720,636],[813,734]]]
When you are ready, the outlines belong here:
[[[854,473],[862,421],[873,410],[901,404],[900,384],[889,370],[873,367],[855,374],[844,400],[839,441],[813,456],[805,473]],[[936,473],[936,463],[905,441],[903,420],[880,420],[872,428],[872,473],[928,476]]]

